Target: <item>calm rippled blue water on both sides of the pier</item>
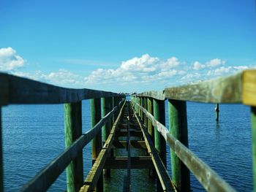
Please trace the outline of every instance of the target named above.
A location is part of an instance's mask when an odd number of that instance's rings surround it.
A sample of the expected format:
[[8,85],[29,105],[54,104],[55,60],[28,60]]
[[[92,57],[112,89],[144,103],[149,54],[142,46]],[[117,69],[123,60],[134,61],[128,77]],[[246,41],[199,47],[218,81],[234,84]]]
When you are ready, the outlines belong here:
[[[83,101],[83,131],[90,128],[89,101]],[[167,114],[167,113],[166,113]],[[219,123],[214,120],[213,104],[187,104],[189,148],[238,191],[252,191],[252,152],[249,107],[220,105]],[[3,107],[4,188],[17,191],[64,150],[64,107],[56,105],[11,105]],[[166,116],[167,120],[167,116]],[[168,123],[167,123],[168,124]],[[167,148],[170,172],[170,150]],[[91,169],[91,145],[83,150],[85,175]],[[113,175],[122,172],[115,171]],[[66,189],[65,172],[49,191]],[[145,172],[142,172],[147,177]],[[132,171],[132,191],[151,191],[154,186],[139,181]],[[120,185],[114,191],[122,190]],[[203,191],[191,176],[192,190]],[[136,186],[140,185],[140,187]],[[144,185],[144,186],[143,186]]]

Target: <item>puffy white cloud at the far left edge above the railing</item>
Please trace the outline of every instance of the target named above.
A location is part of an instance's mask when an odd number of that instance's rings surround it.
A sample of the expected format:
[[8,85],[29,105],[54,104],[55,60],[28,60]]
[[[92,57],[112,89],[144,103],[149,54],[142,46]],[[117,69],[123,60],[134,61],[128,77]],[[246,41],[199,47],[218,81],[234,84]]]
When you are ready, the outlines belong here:
[[25,61],[12,47],[0,48],[0,71],[10,71],[23,66]]

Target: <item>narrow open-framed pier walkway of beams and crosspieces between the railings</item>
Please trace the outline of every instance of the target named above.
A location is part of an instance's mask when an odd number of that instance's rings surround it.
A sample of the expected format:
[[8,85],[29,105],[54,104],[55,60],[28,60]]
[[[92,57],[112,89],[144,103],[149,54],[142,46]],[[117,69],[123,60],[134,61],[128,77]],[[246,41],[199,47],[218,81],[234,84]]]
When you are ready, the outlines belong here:
[[[113,148],[126,149],[127,155],[114,155]],[[145,155],[132,156],[131,152],[134,149],[145,150],[143,153]],[[148,177],[155,177],[157,174],[159,185],[162,186],[163,191],[174,191],[170,177],[154,148],[151,137],[140,118],[132,110],[129,101],[121,107],[110,135],[80,191],[93,191],[97,186],[102,169],[127,169],[124,178],[119,178],[119,180],[123,180],[123,191],[134,191],[131,186],[131,169],[148,169]]]

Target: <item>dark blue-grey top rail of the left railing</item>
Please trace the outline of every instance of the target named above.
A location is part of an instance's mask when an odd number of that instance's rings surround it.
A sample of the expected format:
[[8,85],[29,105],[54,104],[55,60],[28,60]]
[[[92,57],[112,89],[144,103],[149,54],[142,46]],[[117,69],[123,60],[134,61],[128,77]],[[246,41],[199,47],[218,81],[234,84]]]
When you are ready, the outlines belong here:
[[117,93],[92,89],[61,88],[44,82],[0,73],[0,104],[63,104]]

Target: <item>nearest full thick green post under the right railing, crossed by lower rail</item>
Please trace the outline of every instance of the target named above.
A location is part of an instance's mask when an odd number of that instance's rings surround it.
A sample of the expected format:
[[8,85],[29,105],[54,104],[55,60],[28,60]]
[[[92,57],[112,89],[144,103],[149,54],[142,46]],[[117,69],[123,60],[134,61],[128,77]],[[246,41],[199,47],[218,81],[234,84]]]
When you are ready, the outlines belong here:
[[[188,147],[186,101],[168,100],[170,134]],[[178,191],[190,191],[189,169],[171,151],[172,179]]]

